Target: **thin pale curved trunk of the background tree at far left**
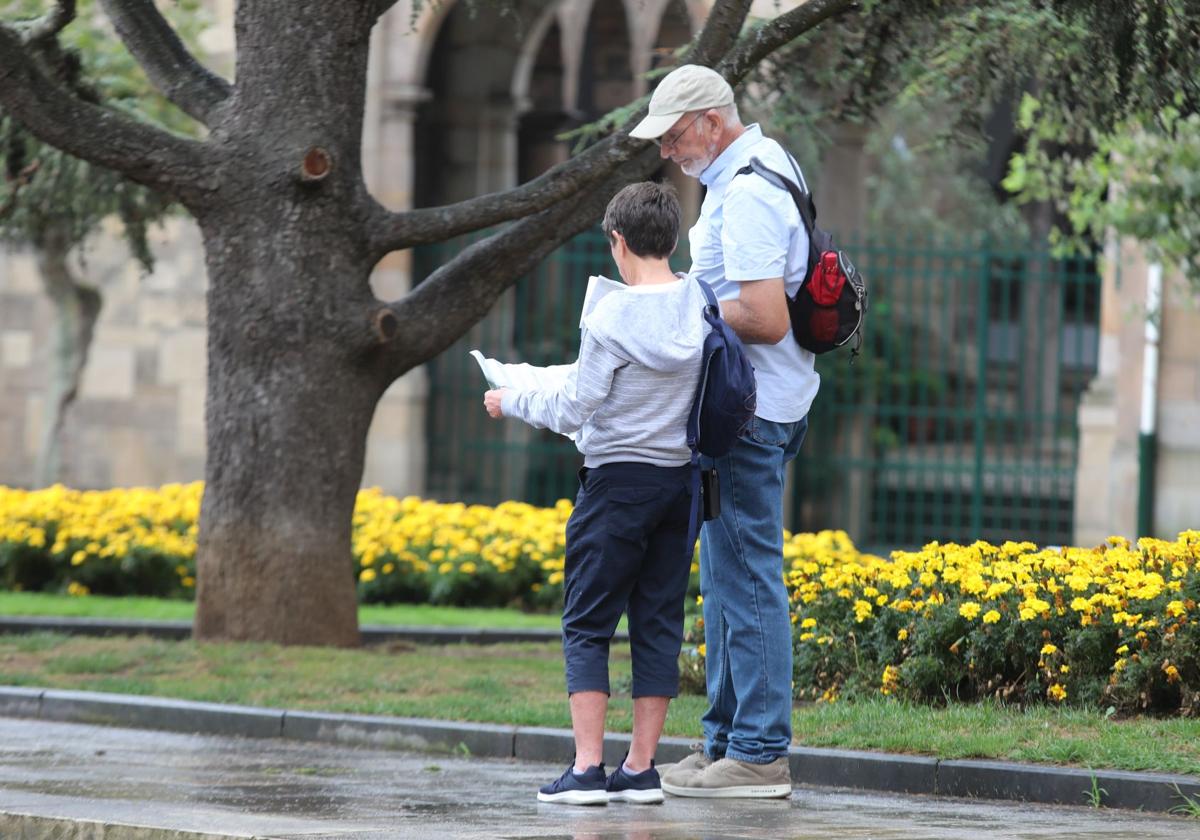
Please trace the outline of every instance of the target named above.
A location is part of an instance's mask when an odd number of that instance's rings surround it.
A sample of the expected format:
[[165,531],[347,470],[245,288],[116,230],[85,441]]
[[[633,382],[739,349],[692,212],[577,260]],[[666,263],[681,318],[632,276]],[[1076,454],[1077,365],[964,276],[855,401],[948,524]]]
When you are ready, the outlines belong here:
[[48,487],[62,479],[62,432],[67,409],[79,394],[88,352],[100,317],[100,292],[79,283],[67,265],[71,238],[49,224],[34,242],[42,288],[54,305],[54,353],[46,392],[46,425],[34,468],[34,485]]

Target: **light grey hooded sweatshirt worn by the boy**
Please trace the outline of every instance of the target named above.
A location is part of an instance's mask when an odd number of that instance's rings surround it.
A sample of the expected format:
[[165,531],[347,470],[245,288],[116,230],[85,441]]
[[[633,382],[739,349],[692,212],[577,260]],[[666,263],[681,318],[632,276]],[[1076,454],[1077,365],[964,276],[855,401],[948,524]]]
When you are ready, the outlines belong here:
[[708,323],[694,280],[605,295],[583,322],[580,358],[553,391],[508,391],[505,416],[560,434],[578,432],[587,467],[690,461],[688,413]]

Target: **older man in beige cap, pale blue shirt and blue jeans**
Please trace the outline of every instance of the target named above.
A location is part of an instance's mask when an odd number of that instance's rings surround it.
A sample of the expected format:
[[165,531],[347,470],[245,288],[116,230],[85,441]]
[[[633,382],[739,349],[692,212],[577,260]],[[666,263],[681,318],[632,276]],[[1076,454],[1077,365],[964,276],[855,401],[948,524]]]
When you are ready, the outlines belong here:
[[[712,284],[746,344],[756,416],[716,458],[721,515],[701,538],[708,712],[703,750],[664,768],[662,788],[691,797],[786,797],[792,739],[792,624],[782,580],[784,470],[808,430],[820,378],[792,337],[786,294],[808,269],[809,242],[791,196],[754,173],[751,157],[799,179],[788,154],[743,126],[733,90],[696,65],[672,71],[632,137],[707,187],[689,232],[691,275]],[[708,464],[706,464],[708,466]]]

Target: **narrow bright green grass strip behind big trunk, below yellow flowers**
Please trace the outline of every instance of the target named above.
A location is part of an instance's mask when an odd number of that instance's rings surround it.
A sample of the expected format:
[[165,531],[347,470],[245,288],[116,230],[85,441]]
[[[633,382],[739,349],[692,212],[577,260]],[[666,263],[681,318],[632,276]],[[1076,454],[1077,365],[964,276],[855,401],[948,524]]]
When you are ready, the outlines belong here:
[[[104,598],[49,595],[40,592],[0,592],[0,616],[54,616],[134,618],[190,622],[196,605],[166,598]],[[482,607],[437,607],[428,604],[360,606],[359,624],[444,628],[497,628],[558,630],[558,614]]]

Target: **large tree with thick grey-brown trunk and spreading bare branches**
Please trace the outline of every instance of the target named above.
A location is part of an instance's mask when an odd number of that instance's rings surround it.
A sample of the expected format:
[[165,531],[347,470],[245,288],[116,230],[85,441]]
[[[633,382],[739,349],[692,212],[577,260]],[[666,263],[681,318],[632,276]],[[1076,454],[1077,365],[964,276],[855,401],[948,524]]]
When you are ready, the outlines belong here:
[[[379,397],[598,220],[617,188],[653,172],[658,151],[618,130],[514,190],[391,212],[364,184],[360,148],[370,32],[394,0],[242,0],[235,84],[196,61],[152,0],[101,2],[208,138],[84,101],[8,25],[0,107],[199,223],[210,290],[196,636],[355,644],[350,522]],[[743,34],[750,0],[719,0],[686,60],[736,84],[851,5],[808,0]],[[35,25],[58,32],[72,14],[60,1]],[[388,253],[503,223],[404,298],[372,294],[371,270]]]

